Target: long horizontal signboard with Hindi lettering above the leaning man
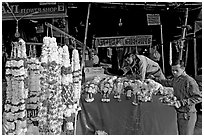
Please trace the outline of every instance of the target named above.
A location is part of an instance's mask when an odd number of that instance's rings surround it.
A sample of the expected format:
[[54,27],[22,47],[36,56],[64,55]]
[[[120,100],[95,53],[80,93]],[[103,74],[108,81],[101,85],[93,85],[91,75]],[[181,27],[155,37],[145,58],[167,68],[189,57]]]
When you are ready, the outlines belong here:
[[96,47],[146,46],[152,45],[152,35],[96,37]]

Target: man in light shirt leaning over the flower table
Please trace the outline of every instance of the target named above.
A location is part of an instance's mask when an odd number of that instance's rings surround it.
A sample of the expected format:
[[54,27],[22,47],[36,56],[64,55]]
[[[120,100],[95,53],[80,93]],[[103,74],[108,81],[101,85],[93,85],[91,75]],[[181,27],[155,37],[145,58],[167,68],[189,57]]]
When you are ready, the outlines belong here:
[[125,65],[121,70],[123,75],[131,74],[141,81],[150,75],[159,79],[166,79],[159,64],[144,55],[128,53],[125,55]]

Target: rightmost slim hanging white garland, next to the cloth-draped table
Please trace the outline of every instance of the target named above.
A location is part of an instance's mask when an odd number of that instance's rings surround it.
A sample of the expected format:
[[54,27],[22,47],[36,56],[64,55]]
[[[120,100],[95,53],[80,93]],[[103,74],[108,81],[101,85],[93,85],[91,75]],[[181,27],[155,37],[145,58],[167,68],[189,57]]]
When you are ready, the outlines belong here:
[[[82,71],[79,60],[79,52],[77,49],[72,51],[72,70],[73,70],[73,92],[74,92],[74,110],[75,110],[75,119],[74,119],[74,133],[76,133],[76,120],[77,113],[80,110],[79,99],[81,96],[81,82],[82,82]],[[71,123],[70,123],[71,124]],[[72,125],[69,125],[72,127]]]

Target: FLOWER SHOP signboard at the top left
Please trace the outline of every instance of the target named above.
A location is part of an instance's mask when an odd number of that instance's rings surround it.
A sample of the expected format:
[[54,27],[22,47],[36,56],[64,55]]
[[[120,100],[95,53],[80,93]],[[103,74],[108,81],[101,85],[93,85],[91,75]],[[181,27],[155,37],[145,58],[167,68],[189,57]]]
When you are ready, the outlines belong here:
[[[10,9],[17,19],[44,19],[66,17],[64,3],[41,4],[40,2],[9,2]],[[6,3],[2,4],[2,20],[14,20]],[[33,14],[35,13],[35,14]]]

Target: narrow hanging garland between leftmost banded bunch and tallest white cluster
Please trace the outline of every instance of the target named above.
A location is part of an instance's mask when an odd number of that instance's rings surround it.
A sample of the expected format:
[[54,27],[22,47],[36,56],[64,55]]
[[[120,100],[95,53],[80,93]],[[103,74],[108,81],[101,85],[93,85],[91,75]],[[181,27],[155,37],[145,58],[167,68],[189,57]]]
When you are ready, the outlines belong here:
[[[32,49],[34,48],[34,49]],[[34,53],[34,54],[33,54]],[[27,123],[38,124],[38,94],[40,92],[40,61],[36,58],[35,46],[30,45],[28,64],[28,100],[27,100]]]

